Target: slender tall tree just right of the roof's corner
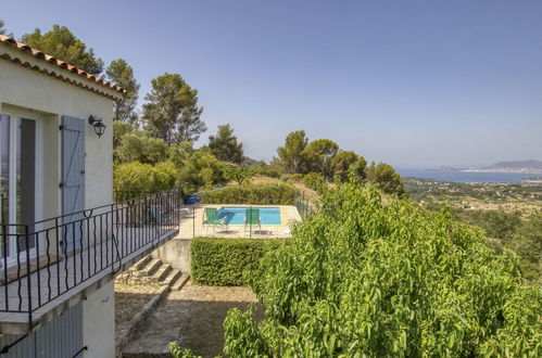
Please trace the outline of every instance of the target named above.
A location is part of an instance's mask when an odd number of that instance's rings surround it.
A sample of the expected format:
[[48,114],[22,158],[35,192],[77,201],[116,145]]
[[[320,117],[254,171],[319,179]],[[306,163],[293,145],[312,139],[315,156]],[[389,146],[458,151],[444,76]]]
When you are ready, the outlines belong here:
[[135,123],[139,84],[134,77],[134,69],[125,60],[118,59],[111,62],[105,74],[113,84],[121,86],[127,92],[124,99],[115,101],[114,119]]

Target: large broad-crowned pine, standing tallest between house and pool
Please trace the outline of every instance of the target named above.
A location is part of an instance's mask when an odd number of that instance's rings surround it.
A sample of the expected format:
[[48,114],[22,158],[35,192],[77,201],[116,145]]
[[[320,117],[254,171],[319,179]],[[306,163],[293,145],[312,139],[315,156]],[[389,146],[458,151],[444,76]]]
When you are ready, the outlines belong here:
[[178,74],[166,73],[151,82],[143,105],[147,130],[168,144],[198,140],[207,129],[200,118],[203,107],[198,106],[198,90]]

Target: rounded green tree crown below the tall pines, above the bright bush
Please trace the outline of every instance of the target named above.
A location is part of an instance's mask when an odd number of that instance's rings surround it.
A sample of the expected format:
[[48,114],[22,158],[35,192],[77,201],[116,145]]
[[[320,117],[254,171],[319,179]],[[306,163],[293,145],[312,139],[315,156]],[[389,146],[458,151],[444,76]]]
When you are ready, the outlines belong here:
[[121,139],[114,155],[119,163],[156,164],[167,159],[168,151],[163,139],[150,137],[147,131],[138,130]]

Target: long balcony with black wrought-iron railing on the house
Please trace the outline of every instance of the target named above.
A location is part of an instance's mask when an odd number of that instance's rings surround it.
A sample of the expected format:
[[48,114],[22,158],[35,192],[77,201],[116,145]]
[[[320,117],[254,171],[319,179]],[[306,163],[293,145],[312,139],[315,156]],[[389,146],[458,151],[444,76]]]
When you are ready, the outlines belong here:
[[167,191],[1,225],[0,334],[30,332],[175,236],[180,204]]

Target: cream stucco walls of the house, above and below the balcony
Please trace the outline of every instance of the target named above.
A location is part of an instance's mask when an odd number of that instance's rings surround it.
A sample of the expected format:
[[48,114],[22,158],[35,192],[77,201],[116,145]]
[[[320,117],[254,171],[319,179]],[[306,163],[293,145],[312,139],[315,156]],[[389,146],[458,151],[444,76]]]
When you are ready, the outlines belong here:
[[[86,86],[118,95],[114,90],[100,87],[76,74],[22,53],[0,43],[0,55],[23,59],[31,65],[63,73],[66,78],[86,81]],[[0,57],[0,113],[37,119],[42,124],[41,159],[42,218],[61,214],[61,117],[70,115],[85,119],[85,206],[104,205],[112,201],[113,190],[113,100],[74,86],[38,71]],[[88,124],[90,115],[99,116],[106,125],[105,133],[98,138]],[[114,357],[115,307],[113,281],[90,294],[83,305],[84,341],[88,346],[85,357]]]

